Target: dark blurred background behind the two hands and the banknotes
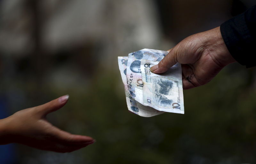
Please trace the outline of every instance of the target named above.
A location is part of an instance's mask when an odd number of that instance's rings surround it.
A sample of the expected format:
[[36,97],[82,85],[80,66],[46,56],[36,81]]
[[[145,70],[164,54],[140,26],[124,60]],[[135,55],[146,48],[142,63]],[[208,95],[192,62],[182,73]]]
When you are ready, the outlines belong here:
[[1,164],[256,163],[255,68],[184,90],[185,115],[128,112],[117,56],[167,50],[253,0],[0,0],[0,118],[70,99],[48,120],[96,143],[72,153],[0,145]]

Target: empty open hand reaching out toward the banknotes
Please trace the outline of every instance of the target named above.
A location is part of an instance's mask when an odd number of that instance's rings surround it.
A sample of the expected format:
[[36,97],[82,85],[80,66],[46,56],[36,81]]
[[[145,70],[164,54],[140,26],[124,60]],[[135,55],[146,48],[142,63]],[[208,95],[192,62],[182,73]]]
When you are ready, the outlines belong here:
[[49,123],[45,116],[63,107],[68,95],[46,104],[20,110],[0,120],[4,125],[0,144],[20,143],[37,149],[66,153],[81,149],[95,140],[88,136],[74,135]]

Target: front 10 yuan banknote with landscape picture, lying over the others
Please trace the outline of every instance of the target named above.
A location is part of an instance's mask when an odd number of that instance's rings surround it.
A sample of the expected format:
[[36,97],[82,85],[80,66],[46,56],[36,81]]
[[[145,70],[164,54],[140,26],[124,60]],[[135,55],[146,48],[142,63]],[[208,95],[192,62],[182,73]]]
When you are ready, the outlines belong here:
[[141,60],[143,105],[159,111],[184,114],[180,63],[162,74],[152,73],[150,68],[158,63],[159,61]]

